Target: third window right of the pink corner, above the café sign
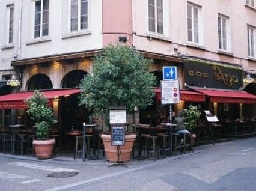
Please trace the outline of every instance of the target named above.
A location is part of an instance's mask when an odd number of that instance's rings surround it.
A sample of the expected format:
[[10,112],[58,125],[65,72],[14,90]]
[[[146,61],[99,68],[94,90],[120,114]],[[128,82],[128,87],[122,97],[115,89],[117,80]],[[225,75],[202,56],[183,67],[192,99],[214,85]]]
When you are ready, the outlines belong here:
[[221,14],[218,15],[218,37],[219,49],[228,51],[228,17]]

